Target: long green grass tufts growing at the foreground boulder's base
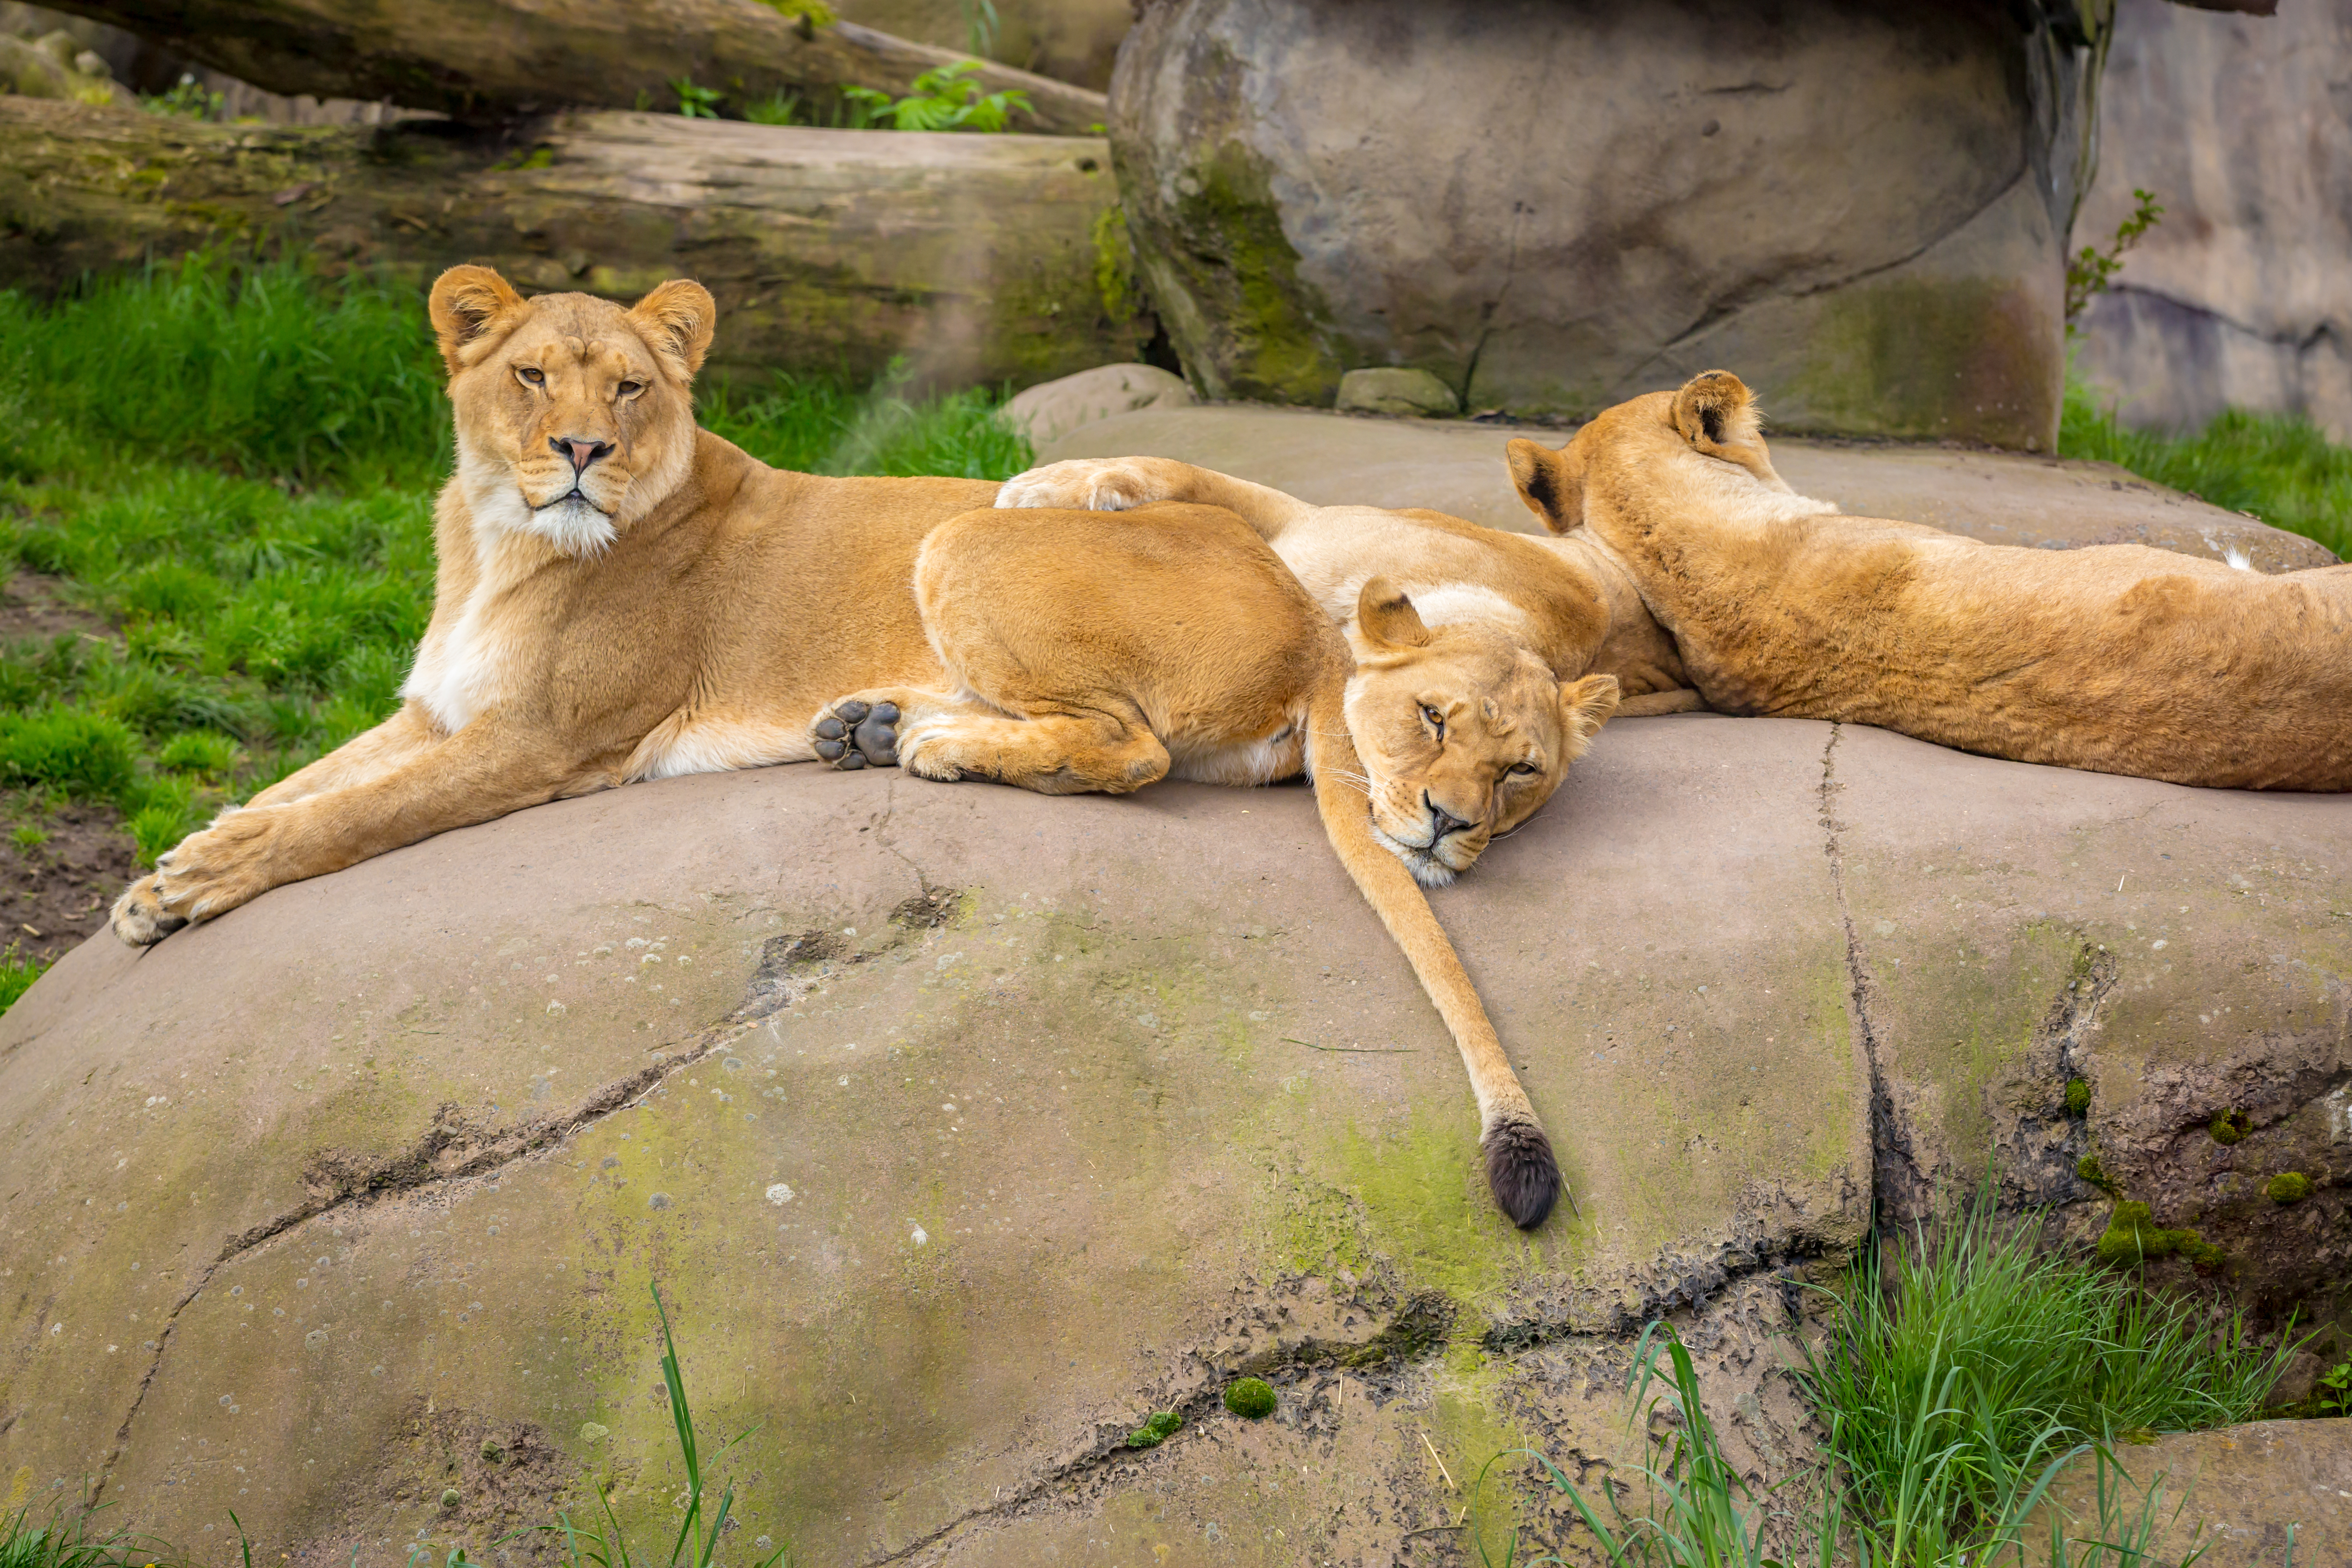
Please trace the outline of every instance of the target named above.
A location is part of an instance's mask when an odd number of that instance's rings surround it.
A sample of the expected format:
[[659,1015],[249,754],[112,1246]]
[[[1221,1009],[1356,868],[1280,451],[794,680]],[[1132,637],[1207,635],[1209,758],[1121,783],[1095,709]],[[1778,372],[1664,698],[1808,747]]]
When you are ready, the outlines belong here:
[[[2234,1321],[2152,1298],[2131,1274],[2039,1253],[2030,1225],[1966,1215],[1912,1246],[1872,1248],[1832,1293],[1797,1366],[1828,1434],[1823,1467],[1790,1495],[1759,1493],[1724,1460],[1665,1324],[1635,1352],[1635,1418],[1658,1429],[1665,1408],[1668,1441],[1635,1476],[1632,1507],[1588,1497],[1543,1455],[1496,1462],[1534,1460],[1609,1563],[2126,1568],[2171,1514],[2161,1476],[2119,1455],[2152,1432],[2253,1418],[2293,1349],[2256,1347]],[[2082,1537],[2034,1521],[2070,1462],[2096,1472],[2098,1519]],[[1498,1552],[1477,1540],[1484,1563],[1564,1561],[1519,1547],[1519,1535]]]

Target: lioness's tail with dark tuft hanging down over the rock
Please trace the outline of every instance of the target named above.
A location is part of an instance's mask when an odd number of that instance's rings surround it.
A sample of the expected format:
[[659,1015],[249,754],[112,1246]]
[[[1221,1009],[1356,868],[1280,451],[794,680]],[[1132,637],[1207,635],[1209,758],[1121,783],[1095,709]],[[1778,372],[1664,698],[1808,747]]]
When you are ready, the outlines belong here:
[[1552,1140],[1536,1119],[1536,1107],[1519,1086],[1519,1074],[1503,1056],[1486,1020],[1486,1006],[1477,999],[1477,987],[1463,973],[1454,943],[1430,912],[1430,900],[1421,893],[1404,863],[1397,860],[1376,837],[1371,837],[1371,813],[1364,802],[1364,766],[1348,736],[1343,710],[1343,679],[1327,679],[1308,710],[1308,776],[1315,780],[1315,806],[1322,811],[1324,835],[1348,867],[1355,886],[1378,912],[1381,924],[1404,950],[1406,961],[1421,978],[1421,987],[1437,1004],[1437,1016],[1454,1032],[1454,1044],[1470,1070],[1470,1088],[1477,1093],[1479,1147],[1486,1152],[1486,1187],[1503,1213],[1522,1229],[1543,1225],[1559,1201],[1559,1161],[1552,1159]]

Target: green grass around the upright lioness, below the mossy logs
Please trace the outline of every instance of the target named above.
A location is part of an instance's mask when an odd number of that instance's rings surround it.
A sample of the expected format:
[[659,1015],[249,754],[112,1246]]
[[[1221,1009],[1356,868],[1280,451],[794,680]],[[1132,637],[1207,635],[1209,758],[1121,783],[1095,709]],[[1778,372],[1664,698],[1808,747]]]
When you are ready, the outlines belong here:
[[[771,376],[701,414],[779,468],[1011,477],[1030,451],[997,402]],[[115,632],[0,646],[9,816],[106,799],[153,863],[390,715],[449,454],[414,289],[195,256],[0,292],[0,571],[59,578]]]

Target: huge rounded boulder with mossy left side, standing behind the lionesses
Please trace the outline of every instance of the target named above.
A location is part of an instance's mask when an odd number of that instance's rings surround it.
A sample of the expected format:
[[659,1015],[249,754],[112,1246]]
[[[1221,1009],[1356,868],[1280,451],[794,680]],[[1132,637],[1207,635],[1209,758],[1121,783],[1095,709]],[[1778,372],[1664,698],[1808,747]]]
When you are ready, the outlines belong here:
[[1583,418],[1738,364],[1780,428],[2049,451],[2107,9],[1155,0],[1110,136],[1209,397]]

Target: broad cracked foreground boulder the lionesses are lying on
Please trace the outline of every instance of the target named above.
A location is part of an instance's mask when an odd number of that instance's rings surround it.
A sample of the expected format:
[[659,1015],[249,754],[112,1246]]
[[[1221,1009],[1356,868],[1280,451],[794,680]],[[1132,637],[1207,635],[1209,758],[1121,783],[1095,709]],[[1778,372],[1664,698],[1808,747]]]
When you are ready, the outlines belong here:
[[[0,1474],[207,1559],[228,1509],[268,1561],[480,1556],[600,1483],[675,1528],[649,1281],[802,1561],[1397,1561],[1505,1448],[1632,1458],[1665,1309],[1785,1474],[1764,1340],[1875,1199],[1990,1166],[2093,1234],[2096,1150],[2223,1248],[2183,1284],[2343,1279],[2347,842],[2352,799],[1611,724],[1435,896],[1578,1199],[1519,1237],[1303,790],[522,811],[92,938],[0,1018]],[[2244,1201],[2286,1161],[2310,1197]]]

